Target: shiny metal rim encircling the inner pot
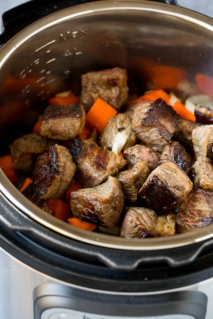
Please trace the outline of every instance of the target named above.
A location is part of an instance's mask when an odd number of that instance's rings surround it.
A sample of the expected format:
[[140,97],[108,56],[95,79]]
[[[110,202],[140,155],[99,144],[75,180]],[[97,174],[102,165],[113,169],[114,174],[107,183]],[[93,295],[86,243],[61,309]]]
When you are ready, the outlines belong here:
[[[79,4],[74,7],[66,8],[52,13],[49,16],[34,22],[24,30],[20,31],[0,50],[0,68],[4,65],[6,60],[15,53],[19,46],[21,46],[28,39],[32,38],[35,34],[41,32],[46,28],[49,28],[50,26],[75,17],[85,16],[89,13],[97,13],[103,11],[118,12],[121,9],[126,11],[154,11],[162,15],[172,15],[178,19],[190,21],[191,23],[200,26],[208,30],[209,32],[213,32],[213,20],[211,18],[195,11],[169,4],[162,4],[144,0],[118,0],[109,2],[98,1],[86,4]],[[213,237],[213,225],[190,233],[169,236],[169,238],[144,238],[142,241],[135,239],[127,240],[125,238],[114,237],[106,234],[88,232],[52,217],[42,211],[39,207],[32,204],[18,191],[18,189],[14,187],[14,185],[11,184],[11,182],[7,179],[1,169],[0,191],[12,204],[14,204],[19,210],[24,212],[27,216],[29,216],[36,222],[66,237],[70,237],[77,241],[83,241],[92,245],[98,245],[113,249],[156,250],[170,249],[194,244],[196,242],[204,241]]]

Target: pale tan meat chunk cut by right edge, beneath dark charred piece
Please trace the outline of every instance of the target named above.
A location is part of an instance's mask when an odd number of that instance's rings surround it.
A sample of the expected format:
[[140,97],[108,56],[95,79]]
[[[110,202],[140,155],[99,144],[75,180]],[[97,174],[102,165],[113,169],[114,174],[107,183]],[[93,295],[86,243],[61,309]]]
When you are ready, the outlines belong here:
[[192,141],[194,145],[194,156],[209,157],[213,159],[213,124],[199,126],[192,131]]

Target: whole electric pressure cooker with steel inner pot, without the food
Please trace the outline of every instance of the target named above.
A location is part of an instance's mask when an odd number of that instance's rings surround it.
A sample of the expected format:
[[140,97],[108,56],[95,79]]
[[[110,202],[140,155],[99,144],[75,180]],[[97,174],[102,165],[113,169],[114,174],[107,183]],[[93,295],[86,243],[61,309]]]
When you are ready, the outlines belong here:
[[[146,87],[150,61],[186,70],[188,85],[197,73],[213,76],[213,20],[175,0],[34,1],[3,21],[2,155],[31,132],[48,97],[79,94],[87,71],[126,68],[134,93]],[[0,193],[1,319],[213,317],[213,225],[126,240],[48,215],[2,172]]]

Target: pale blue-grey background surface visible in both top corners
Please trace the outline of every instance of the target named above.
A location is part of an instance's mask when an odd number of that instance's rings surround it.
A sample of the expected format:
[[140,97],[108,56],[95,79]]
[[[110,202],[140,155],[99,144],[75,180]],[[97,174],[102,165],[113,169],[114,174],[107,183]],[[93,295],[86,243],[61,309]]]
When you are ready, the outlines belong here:
[[[26,2],[26,0],[0,0],[0,16],[2,14],[19,4]],[[213,18],[213,1],[212,0],[177,0],[180,6],[198,11]]]

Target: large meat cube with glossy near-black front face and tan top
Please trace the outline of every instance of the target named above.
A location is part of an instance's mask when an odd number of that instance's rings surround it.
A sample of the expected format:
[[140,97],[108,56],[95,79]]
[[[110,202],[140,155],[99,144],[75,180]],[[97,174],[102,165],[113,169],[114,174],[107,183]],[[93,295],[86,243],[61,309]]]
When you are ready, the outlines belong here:
[[178,207],[192,187],[188,175],[174,162],[167,161],[152,171],[139,195],[149,208],[163,214]]

